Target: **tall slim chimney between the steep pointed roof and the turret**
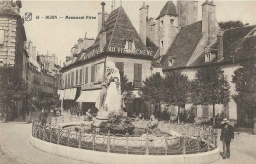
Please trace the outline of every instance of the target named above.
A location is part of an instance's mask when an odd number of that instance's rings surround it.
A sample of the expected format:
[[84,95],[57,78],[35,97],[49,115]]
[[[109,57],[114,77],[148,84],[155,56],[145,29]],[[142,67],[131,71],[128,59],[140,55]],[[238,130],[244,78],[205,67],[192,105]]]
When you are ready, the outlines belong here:
[[147,13],[148,8],[145,7],[145,2],[143,2],[142,7],[139,9],[140,11],[140,24],[139,24],[139,35],[142,39],[144,45],[146,45],[146,34],[147,34]]

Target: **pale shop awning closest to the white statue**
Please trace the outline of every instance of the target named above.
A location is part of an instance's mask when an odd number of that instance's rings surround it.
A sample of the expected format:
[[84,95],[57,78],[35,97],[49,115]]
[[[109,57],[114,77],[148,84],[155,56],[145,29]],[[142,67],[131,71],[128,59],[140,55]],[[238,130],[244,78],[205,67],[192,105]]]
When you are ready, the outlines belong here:
[[97,102],[100,96],[101,90],[89,90],[82,91],[77,102]]

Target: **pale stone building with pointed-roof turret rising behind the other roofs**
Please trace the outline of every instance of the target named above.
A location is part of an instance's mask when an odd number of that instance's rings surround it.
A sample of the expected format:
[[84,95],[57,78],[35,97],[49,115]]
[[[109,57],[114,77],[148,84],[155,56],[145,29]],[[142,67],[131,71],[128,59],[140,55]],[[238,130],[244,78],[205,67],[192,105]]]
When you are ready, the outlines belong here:
[[149,6],[143,4],[139,9],[139,34],[145,44],[147,38],[159,48],[155,57],[166,54],[181,27],[198,21],[197,6],[197,1],[177,1],[177,5],[168,1],[158,17],[153,19],[148,16]]

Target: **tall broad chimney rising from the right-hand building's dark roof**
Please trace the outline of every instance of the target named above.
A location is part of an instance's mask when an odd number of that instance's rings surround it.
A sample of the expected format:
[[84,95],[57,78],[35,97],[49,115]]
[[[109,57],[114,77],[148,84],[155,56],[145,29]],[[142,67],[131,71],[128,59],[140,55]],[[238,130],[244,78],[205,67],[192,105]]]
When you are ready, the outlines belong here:
[[214,41],[219,30],[215,18],[215,5],[213,1],[206,0],[202,4],[202,32],[204,33],[204,46]]

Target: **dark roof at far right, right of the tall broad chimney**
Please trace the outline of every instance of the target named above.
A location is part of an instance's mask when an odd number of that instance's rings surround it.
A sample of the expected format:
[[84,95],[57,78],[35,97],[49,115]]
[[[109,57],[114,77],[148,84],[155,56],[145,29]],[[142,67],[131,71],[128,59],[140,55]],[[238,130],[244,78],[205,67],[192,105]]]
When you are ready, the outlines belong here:
[[[224,59],[218,62],[237,62],[246,58],[256,58],[256,36],[247,36],[256,25],[237,27],[225,30],[223,33]],[[209,45],[207,49],[217,50],[217,41]],[[205,53],[203,52],[191,66],[199,66],[205,63]]]

